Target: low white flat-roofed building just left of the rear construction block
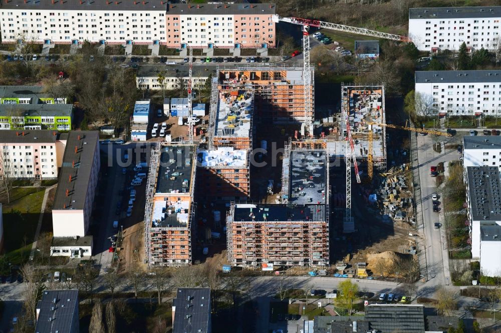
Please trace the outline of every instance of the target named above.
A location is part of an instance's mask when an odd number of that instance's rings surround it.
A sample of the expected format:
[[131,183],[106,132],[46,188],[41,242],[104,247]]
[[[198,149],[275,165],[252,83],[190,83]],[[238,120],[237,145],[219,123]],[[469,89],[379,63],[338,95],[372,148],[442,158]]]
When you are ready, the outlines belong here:
[[[217,66],[200,65],[193,66],[192,69],[192,86],[194,89],[201,89],[205,85],[205,81],[215,72]],[[188,85],[189,73],[186,65],[141,65],[137,68],[136,84],[138,89],[160,90],[162,84],[159,81],[158,75],[164,77],[164,89],[178,89],[181,82],[186,89]]]

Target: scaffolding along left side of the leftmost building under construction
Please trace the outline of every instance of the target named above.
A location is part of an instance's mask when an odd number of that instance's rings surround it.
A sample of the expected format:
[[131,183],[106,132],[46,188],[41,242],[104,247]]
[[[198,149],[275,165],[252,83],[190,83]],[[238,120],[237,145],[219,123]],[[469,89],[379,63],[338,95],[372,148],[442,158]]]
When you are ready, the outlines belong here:
[[155,195],[155,184],[158,175],[158,162],[160,160],[160,143],[154,143],[151,146],[150,168],[148,172],[148,180],[146,181],[146,204],[144,207],[144,246],[148,262],[151,262],[151,251],[149,251],[151,243],[150,226],[151,213],[153,210],[153,201]]

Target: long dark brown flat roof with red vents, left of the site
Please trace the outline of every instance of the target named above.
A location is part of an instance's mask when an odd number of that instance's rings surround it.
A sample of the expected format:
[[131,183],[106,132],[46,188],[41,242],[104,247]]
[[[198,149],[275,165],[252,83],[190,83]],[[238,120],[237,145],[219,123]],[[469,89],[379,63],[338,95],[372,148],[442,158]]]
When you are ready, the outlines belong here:
[[[98,144],[97,130],[72,130],[68,133],[53,210],[85,207],[94,154],[99,154]],[[75,147],[77,147],[76,152]],[[68,195],[66,195],[67,189]]]

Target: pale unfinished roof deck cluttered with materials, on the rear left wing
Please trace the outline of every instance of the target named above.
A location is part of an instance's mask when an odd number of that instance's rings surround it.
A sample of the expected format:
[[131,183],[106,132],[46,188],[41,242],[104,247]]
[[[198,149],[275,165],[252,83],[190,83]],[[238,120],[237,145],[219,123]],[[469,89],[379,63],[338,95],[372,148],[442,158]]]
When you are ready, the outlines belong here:
[[249,137],[252,126],[254,93],[243,90],[220,90],[214,135]]

